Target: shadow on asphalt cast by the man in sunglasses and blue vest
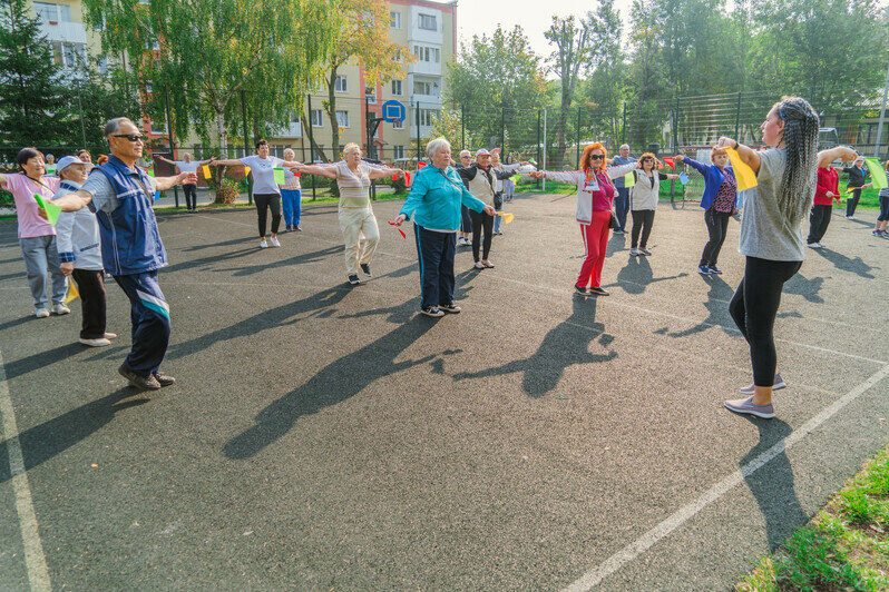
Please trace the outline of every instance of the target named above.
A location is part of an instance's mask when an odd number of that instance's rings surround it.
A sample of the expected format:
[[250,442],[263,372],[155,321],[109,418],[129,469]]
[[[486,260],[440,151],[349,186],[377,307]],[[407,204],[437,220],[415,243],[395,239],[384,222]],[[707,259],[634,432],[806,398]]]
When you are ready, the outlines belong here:
[[[125,386],[99,399],[26,430],[19,434],[25,470],[29,471],[39,466],[86,440],[110,423],[118,412],[143,405],[148,401],[143,393]],[[12,476],[6,450],[8,445],[9,441],[6,440],[0,443],[0,483],[6,483]]]

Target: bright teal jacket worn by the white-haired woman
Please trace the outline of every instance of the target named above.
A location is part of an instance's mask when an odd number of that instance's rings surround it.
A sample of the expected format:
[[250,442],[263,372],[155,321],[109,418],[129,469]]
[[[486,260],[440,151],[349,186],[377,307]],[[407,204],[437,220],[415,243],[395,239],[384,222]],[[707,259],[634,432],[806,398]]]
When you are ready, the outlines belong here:
[[414,224],[433,230],[460,229],[460,206],[481,211],[485,203],[472,197],[452,167],[448,170],[429,165],[420,169],[401,214]]

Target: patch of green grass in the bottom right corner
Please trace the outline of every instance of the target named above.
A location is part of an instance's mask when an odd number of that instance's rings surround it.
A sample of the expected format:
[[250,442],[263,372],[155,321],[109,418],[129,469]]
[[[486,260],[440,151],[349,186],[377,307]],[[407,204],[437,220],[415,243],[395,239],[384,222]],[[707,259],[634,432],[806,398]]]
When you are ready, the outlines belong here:
[[889,590],[889,447],[735,590]]

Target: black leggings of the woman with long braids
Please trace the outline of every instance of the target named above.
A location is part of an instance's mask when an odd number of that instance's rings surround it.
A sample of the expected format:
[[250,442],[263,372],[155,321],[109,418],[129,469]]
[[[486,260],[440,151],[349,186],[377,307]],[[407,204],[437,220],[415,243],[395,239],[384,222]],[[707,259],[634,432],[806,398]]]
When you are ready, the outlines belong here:
[[774,318],[784,283],[800,270],[802,262],[773,262],[748,257],[744,278],[729,303],[729,313],[750,344],[753,384],[772,386],[778,366]]

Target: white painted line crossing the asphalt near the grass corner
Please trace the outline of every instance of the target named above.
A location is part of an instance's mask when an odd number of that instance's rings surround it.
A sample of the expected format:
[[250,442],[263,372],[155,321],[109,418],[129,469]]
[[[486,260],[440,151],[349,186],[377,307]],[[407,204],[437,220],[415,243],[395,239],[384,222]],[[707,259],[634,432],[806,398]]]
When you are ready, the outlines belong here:
[[[690,504],[684,505],[675,513],[671,514],[666,520],[661,522],[657,526],[643,534],[639,539],[626,545],[624,549],[605,560],[600,565],[589,570],[584,575],[578,578],[574,583],[566,586],[563,592],[582,592],[587,591],[603,580],[615,573],[617,570],[634,561],[645,551],[654,546],[657,542],[667,537],[673,531],[685,524],[688,520],[693,519],[704,507],[717,501],[720,497],[729,493],[732,489],[741,484],[745,477],[752,475],[775,456],[790,450],[794,444],[802,441],[805,436],[818,430],[821,424],[837,415],[849,403],[857,399],[871,387],[877,385],[880,381],[889,376],[889,365],[883,366],[870,378],[852,388],[849,393],[841,398],[834,401],[831,405],[825,407],[821,413],[805,422],[802,426],[794,430],[787,438],[778,442],[768,451],[761,453],[741,468],[731,473],[725,478],[716,483],[709,491],[701,494],[696,500]],[[729,413],[729,412],[726,412]]]

